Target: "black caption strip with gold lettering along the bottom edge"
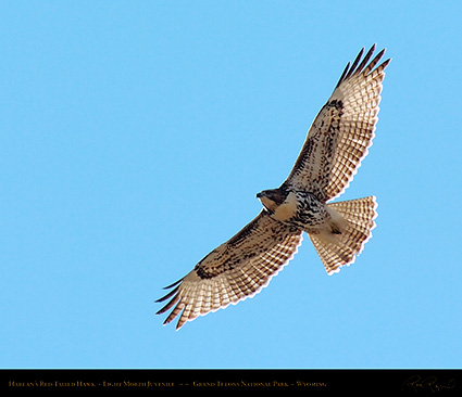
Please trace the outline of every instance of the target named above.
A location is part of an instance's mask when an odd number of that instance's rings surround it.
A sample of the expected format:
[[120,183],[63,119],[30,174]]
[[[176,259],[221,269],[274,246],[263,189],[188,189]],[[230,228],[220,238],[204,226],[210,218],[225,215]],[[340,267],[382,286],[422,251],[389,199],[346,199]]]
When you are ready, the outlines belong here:
[[5,369],[1,389],[25,393],[162,394],[186,392],[286,392],[309,395],[462,395],[458,369],[377,370],[148,370],[148,369]]

